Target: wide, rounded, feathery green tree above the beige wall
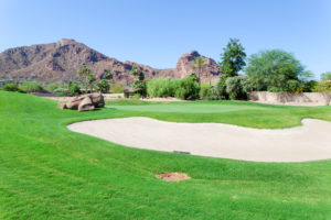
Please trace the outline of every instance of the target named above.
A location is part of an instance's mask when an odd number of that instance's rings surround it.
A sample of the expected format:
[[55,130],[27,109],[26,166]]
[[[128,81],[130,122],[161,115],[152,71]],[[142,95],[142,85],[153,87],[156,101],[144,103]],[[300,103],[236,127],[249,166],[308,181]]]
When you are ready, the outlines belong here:
[[288,81],[299,80],[303,66],[282,50],[261,51],[248,59],[246,74],[258,91],[288,91]]

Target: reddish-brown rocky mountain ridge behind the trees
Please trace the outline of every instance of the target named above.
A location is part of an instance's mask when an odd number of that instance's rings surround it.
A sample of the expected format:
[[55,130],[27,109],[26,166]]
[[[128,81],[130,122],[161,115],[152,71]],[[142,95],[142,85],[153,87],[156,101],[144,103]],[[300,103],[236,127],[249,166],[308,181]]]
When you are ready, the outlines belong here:
[[[77,69],[86,65],[97,78],[103,78],[105,72],[110,70],[115,80],[129,82],[132,67],[146,74],[146,78],[189,76],[193,68],[193,61],[200,56],[195,51],[182,55],[175,68],[157,69],[134,62],[119,62],[89,48],[74,40],[62,38],[56,43],[38,44],[9,48],[0,53],[0,78],[35,79],[42,82],[61,82],[77,79]],[[202,56],[206,66],[203,72],[217,76],[220,68],[214,59]]]

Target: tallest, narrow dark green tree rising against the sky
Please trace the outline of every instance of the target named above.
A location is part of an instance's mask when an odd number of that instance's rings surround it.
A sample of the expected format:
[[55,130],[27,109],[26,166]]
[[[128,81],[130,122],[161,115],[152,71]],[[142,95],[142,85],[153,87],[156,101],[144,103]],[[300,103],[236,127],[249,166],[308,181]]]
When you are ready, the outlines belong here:
[[227,76],[237,76],[238,72],[246,65],[246,53],[237,38],[229,38],[226,47],[221,54],[220,72]]

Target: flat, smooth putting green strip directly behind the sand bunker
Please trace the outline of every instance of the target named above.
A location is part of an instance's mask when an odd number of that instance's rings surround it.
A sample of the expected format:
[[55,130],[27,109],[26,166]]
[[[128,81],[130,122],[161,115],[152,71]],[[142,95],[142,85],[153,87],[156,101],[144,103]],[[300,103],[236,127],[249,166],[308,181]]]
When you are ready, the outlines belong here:
[[281,129],[301,124],[301,119],[331,121],[331,107],[289,107],[245,101],[142,102],[113,101],[113,110],[175,122],[220,122],[260,129]]

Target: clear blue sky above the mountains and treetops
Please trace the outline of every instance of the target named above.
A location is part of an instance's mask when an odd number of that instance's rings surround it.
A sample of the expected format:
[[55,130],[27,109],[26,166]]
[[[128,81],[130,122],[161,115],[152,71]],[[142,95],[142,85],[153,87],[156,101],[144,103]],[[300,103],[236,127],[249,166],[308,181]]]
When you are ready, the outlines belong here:
[[107,56],[172,68],[192,50],[220,61],[282,48],[317,78],[331,70],[331,0],[0,0],[0,52],[74,38]]

